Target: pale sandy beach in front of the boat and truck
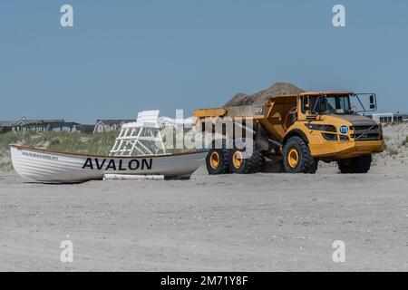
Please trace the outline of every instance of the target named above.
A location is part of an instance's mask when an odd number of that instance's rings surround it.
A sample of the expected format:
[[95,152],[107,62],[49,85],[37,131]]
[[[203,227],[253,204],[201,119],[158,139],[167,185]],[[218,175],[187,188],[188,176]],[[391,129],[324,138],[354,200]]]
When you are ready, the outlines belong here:
[[[386,153],[383,153],[384,157]],[[386,164],[384,164],[386,162]],[[186,181],[0,177],[0,270],[406,271],[406,158],[366,175],[258,173]],[[73,242],[73,263],[60,243]],[[332,244],[345,242],[345,263]]]

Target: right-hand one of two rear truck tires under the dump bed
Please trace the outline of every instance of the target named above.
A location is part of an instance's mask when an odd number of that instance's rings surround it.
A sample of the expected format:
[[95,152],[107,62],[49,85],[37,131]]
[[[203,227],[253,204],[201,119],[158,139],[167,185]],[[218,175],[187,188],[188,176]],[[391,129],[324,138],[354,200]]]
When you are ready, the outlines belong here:
[[250,158],[244,159],[242,150],[234,149],[229,157],[229,172],[237,174],[257,173],[262,169],[263,157],[259,150],[253,150]]

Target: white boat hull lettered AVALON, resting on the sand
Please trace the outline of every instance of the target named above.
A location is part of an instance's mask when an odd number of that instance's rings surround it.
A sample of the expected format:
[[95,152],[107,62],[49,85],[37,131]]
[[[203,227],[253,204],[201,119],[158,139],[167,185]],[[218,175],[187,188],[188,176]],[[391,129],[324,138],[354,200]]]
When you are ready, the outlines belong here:
[[108,157],[70,154],[10,146],[13,167],[24,179],[40,182],[83,182],[102,179],[105,173],[163,175],[185,179],[199,168],[207,152],[160,156]]

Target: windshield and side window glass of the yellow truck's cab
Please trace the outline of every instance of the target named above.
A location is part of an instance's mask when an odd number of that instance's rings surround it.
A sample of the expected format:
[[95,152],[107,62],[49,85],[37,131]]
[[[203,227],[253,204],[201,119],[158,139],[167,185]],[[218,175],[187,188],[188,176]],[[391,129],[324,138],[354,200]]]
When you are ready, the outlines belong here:
[[350,95],[309,96],[312,114],[351,114]]

